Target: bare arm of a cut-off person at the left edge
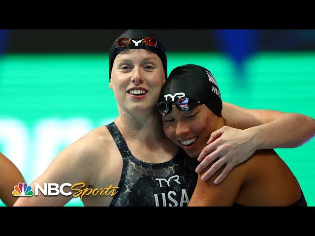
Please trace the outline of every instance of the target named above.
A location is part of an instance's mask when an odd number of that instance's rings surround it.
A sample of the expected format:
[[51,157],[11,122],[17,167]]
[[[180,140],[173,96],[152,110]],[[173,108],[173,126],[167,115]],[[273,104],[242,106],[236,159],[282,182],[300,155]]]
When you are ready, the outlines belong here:
[[12,195],[15,185],[24,183],[24,178],[18,168],[0,153],[0,199],[8,207],[12,207],[18,199]]

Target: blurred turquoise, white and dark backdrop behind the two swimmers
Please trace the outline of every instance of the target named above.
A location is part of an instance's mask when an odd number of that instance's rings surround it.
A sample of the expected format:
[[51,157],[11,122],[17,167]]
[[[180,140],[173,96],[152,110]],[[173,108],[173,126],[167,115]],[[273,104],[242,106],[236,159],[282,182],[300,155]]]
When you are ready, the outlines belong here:
[[[0,152],[28,183],[63,148],[117,117],[108,50],[124,31],[0,30]],[[151,31],[168,51],[168,74],[202,65],[223,101],[315,118],[315,30]],[[276,152],[315,206],[315,139]]]

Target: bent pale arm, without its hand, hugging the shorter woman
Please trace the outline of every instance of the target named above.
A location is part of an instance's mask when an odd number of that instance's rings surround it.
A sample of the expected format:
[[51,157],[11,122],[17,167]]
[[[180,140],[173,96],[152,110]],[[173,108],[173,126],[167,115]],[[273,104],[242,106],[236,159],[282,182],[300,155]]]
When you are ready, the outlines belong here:
[[245,109],[223,102],[226,125],[246,129],[256,150],[296,148],[315,136],[315,119],[297,113]]

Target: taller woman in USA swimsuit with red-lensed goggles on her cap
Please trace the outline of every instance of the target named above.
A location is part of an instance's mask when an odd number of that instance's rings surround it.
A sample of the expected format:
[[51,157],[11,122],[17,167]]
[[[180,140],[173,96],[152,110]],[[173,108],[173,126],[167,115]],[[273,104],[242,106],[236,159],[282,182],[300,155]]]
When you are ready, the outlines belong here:
[[[106,188],[111,184],[119,187],[113,198],[84,197],[85,206],[187,206],[197,181],[198,163],[165,136],[156,109],[167,75],[165,48],[152,32],[129,29],[116,38],[110,48],[109,72],[109,87],[114,91],[119,116],[113,123],[92,130],[65,148],[31,186],[34,187],[35,182],[84,182],[91,188]],[[242,109],[227,103],[223,104],[222,111],[222,114],[224,111],[243,114]],[[272,114],[272,120],[279,118],[279,113]],[[259,125],[255,117],[256,114],[251,117],[251,124]],[[226,119],[234,117],[226,115]],[[303,123],[303,118],[297,119]],[[292,122],[292,119],[281,120],[279,118],[283,125]],[[234,127],[242,125],[235,122]],[[269,129],[277,129],[277,125],[270,125]],[[240,136],[239,140],[247,137]],[[309,138],[309,132],[299,133],[299,140]],[[283,142],[292,143],[292,137],[287,136]],[[252,149],[251,143],[245,146]],[[233,149],[239,147],[247,150],[240,143]],[[245,152],[241,158],[250,156]],[[20,198],[16,206],[63,206],[71,198],[72,195],[53,199],[39,195]]]

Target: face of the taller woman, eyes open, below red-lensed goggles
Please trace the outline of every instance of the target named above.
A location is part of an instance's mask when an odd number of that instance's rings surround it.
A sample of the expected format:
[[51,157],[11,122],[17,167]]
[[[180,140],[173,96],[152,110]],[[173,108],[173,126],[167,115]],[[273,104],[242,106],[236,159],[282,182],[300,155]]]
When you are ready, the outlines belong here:
[[164,82],[163,65],[157,54],[129,49],[114,60],[109,88],[114,91],[120,113],[126,114],[127,106],[132,106],[128,112],[140,109],[152,114]]

